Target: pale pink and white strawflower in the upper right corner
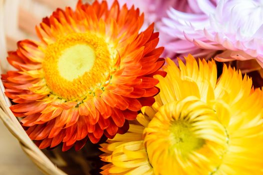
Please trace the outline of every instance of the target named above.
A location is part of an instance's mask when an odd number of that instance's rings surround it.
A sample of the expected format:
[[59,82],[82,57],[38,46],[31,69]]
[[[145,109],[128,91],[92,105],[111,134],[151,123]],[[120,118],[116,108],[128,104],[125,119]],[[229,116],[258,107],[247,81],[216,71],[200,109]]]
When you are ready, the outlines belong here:
[[163,19],[161,31],[172,37],[167,50],[204,49],[203,56],[216,54],[220,61],[255,58],[263,66],[263,0],[196,0],[196,4],[200,13],[171,8]]

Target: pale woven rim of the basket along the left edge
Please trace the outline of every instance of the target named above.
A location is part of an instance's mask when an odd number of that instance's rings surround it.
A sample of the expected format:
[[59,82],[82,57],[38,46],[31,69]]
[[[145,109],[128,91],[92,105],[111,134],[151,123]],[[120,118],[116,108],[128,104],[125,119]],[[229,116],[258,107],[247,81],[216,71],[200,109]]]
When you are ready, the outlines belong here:
[[[0,56],[1,67],[0,73],[2,74],[3,67],[6,68],[6,38],[7,35],[4,30],[4,3],[5,0],[0,0]],[[4,71],[5,72],[5,71]],[[19,140],[22,149],[32,159],[32,161],[40,168],[44,174],[66,174],[59,169],[52,161],[37,147],[37,145],[29,138],[26,131],[21,126],[20,122],[10,110],[10,100],[5,95],[5,88],[3,82],[0,81],[0,118],[3,120],[9,131]]]

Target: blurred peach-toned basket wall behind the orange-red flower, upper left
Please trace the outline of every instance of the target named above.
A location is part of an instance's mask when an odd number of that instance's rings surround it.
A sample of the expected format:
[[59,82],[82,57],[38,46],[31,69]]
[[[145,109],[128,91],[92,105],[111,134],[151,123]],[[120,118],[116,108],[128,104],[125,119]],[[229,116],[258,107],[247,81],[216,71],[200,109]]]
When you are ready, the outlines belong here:
[[[75,8],[78,0],[0,0],[0,57],[2,71],[9,69],[3,58],[7,50],[16,50],[17,41],[37,39],[35,26],[43,17],[52,14],[56,8]],[[89,0],[83,0],[89,1]]]

